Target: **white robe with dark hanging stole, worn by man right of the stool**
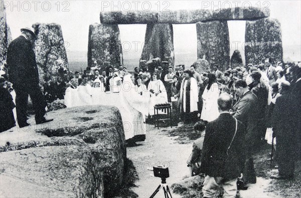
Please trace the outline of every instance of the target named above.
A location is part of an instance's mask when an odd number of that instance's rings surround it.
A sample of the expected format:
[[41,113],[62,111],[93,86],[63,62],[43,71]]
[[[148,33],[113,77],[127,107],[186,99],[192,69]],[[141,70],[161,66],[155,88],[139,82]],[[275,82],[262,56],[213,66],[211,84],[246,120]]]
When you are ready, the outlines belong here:
[[[199,102],[199,94],[198,94],[198,83],[197,80],[195,78],[191,78],[190,81],[190,112],[194,112],[194,111],[198,111],[198,102]],[[184,112],[186,112],[186,87],[187,87],[187,80],[183,79],[183,82],[181,84],[181,101],[182,101],[182,97],[183,99],[183,109]],[[182,110],[182,108],[181,108]],[[188,112],[188,113],[190,113]]]

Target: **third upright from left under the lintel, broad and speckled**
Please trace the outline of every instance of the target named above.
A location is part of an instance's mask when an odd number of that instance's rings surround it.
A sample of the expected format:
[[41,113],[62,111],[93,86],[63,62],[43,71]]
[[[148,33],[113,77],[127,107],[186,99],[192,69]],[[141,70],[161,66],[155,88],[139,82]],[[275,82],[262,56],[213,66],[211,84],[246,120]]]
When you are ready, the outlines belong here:
[[220,66],[224,71],[230,63],[229,31],[226,21],[197,24],[198,59],[206,59],[210,68]]

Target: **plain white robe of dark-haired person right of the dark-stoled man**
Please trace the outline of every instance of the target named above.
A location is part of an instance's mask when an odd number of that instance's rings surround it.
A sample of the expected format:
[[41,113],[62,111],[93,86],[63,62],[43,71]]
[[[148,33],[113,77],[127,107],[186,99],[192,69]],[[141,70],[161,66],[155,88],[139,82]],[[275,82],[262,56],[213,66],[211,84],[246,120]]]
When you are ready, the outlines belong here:
[[217,83],[213,83],[209,90],[207,89],[207,87],[205,88],[204,93],[202,95],[203,109],[202,109],[201,119],[211,122],[217,119],[220,114],[217,105],[217,99],[219,97],[219,89]]

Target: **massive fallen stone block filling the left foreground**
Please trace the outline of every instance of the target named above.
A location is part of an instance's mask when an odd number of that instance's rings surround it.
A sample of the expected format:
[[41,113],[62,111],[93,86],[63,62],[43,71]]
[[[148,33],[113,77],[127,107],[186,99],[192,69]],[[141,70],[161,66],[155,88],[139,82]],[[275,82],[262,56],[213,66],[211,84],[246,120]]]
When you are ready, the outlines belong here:
[[[72,180],[77,182],[77,178],[82,176],[78,176],[79,173],[76,171],[82,170],[82,174],[92,175],[91,177],[82,177],[82,179],[94,179],[93,182],[96,183],[94,185],[92,181],[89,181],[90,186],[84,181],[83,185],[73,183],[74,186],[82,188],[80,193],[78,190],[73,192],[71,188],[68,188],[63,190],[61,194],[59,194],[60,190],[46,191],[49,193],[45,196],[42,194],[45,191],[43,185],[40,188],[34,185],[33,187],[37,188],[39,192],[36,197],[95,197],[102,182],[103,194],[106,197],[113,196],[123,182],[124,160],[126,159],[123,123],[118,109],[103,105],[81,106],[52,111],[48,113],[48,117],[54,118],[54,121],[34,125],[34,120],[29,120],[32,123],[30,127],[14,128],[13,132],[0,133],[1,161],[3,159],[7,161],[10,157],[13,159],[14,156],[18,155],[31,155],[31,158],[25,157],[21,160],[24,163],[32,163],[35,160],[39,161],[45,158],[49,162],[62,164],[63,167],[66,167],[63,170],[70,182]],[[53,153],[48,153],[49,150],[53,150]],[[82,152],[77,153],[78,150]],[[42,155],[42,153],[45,154]],[[85,156],[83,157],[81,153]],[[18,160],[16,159],[16,161]],[[41,163],[44,162],[43,160]],[[72,171],[72,168],[69,169],[70,161],[72,161],[73,166],[77,167],[75,172]],[[89,164],[89,166],[84,164]],[[53,182],[65,182],[65,173],[61,173],[63,171],[61,168],[61,165],[52,165],[51,170],[45,169],[43,173],[39,173],[39,177],[40,174],[46,174],[49,175],[50,180],[54,180]],[[37,181],[36,183],[39,183],[39,180],[32,176],[35,175],[28,174],[22,179],[24,178],[26,182],[31,182],[34,179],[35,182]],[[1,180],[2,185],[3,183],[8,184],[6,180]],[[57,189],[56,186],[51,187]],[[21,189],[23,190],[23,188]],[[12,191],[12,193],[14,192]],[[98,193],[100,193],[99,190]],[[16,196],[19,196],[17,192]]]

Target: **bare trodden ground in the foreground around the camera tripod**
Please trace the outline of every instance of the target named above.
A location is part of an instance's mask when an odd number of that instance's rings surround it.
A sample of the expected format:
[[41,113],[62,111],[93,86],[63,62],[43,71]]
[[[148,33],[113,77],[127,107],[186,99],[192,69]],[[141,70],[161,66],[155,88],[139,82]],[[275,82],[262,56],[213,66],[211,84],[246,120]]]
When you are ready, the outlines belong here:
[[[171,187],[173,183],[187,178],[189,170],[186,160],[192,150],[192,142],[198,138],[193,132],[193,125],[179,125],[177,127],[165,127],[158,130],[153,125],[147,125],[146,140],[138,146],[127,148],[127,157],[132,161],[129,182],[133,182],[130,190],[120,197],[149,197],[161,179],[154,177],[152,167],[154,165],[168,165],[170,177],[167,183]],[[255,169],[258,173],[257,183],[251,184],[247,190],[240,190],[237,197],[300,197],[301,163],[296,164],[295,178],[291,181],[274,180],[269,178],[269,145],[263,144],[258,148],[254,157]],[[135,169],[135,170],[134,170]],[[130,187],[128,186],[128,187]],[[175,189],[173,197],[201,197],[201,184],[194,184],[188,189]],[[222,196],[222,190],[217,197]],[[163,190],[155,197],[164,197]]]

